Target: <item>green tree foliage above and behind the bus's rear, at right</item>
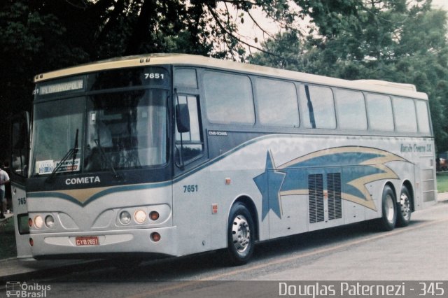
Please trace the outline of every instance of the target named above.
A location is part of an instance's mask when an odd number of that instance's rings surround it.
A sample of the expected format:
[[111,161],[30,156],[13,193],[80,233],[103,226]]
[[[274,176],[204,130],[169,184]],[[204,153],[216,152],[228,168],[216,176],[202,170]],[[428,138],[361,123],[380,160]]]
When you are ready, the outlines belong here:
[[289,34],[279,34],[263,44],[272,54],[259,52],[252,63],[414,84],[430,98],[437,150],[448,150],[445,11],[431,9],[430,0],[295,2],[310,11],[318,34],[297,36],[294,46]]

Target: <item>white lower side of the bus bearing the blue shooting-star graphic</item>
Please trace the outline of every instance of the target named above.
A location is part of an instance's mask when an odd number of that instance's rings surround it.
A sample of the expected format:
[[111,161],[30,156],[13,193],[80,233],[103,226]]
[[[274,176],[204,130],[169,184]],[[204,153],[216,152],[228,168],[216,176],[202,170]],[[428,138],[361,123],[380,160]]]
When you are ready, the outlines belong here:
[[[237,134],[244,133],[209,136],[209,148],[232,148]],[[241,197],[255,204],[260,241],[380,218],[386,183],[393,185],[397,201],[405,181],[416,193],[426,187],[416,180],[421,158],[416,151],[427,141],[272,134],[221,150],[174,184],[175,225],[180,238],[188,239],[181,255],[225,248],[228,213]],[[403,150],[406,143],[416,149]]]

